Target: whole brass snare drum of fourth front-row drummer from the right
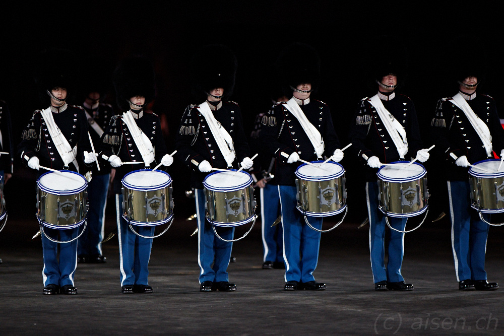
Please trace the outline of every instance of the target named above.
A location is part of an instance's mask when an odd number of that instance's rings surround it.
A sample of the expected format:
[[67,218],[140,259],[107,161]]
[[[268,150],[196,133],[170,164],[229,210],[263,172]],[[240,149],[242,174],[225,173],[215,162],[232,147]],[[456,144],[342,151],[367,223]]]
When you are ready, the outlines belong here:
[[215,226],[238,226],[256,217],[252,177],[244,171],[218,171],[207,175],[205,187],[206,218]]

